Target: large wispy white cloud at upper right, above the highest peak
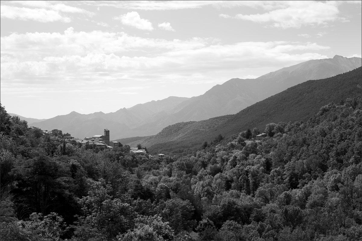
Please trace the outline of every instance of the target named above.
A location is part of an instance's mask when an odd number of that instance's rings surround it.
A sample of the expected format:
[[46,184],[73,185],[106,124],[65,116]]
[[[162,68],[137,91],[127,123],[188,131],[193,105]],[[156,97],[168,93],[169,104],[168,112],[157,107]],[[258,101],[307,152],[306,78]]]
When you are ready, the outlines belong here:
[[[302,26],[327,26],[328,22],[346,21],[338,17],[338,3],[335,1],[272,1],[278,9],[270,10],[262,14],[236,14],[235,18],[257,23],[271,24],[282,29],[300,28]],[[270,7],[271,8],[271,7]]]

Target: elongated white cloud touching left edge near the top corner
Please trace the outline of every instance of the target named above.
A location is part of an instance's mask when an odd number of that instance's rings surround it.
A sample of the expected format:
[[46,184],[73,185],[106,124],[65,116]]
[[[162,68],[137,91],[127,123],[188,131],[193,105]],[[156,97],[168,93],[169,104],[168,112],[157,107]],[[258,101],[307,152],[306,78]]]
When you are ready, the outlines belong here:
[[18,8],[7,5],[1,5],[0,17],[18,20],[33,20],[38,22],[71,21],[70,18],[60,16],[60,14],[54,10],[42,8]]

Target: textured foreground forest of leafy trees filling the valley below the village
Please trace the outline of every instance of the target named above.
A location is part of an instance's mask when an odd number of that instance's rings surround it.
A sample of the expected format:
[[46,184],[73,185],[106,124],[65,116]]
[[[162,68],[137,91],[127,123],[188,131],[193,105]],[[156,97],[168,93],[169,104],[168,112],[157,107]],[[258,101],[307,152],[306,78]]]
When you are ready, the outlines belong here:
[[362,101],[163,160],[42,135],[1,106],[1,240],[361,240]]

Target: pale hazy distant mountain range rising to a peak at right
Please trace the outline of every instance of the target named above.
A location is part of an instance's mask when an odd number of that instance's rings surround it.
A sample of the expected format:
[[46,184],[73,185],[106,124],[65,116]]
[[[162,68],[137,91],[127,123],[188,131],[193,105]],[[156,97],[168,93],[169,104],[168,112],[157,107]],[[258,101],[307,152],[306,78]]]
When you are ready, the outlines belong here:
[[282,68],[256,79],[233,78],[192,98],[171,96],[111,113],[85,115],[73,111],[28,123],[41,129],[59,129],[78,138],[102,134],[104,128],[111,130],[111,139],[155,135],[178,122],[235,114],[291,86],[345,73],[361,66],[361,62],[358,57],[336,55],[332,59],[310,60]]

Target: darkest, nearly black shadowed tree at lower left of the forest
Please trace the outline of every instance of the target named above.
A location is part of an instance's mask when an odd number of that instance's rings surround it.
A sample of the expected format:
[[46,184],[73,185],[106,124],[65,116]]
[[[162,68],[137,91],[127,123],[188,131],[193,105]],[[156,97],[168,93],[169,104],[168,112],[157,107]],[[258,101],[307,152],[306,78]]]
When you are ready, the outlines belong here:
[[49,214],[64,205],[63,195],[67,195],[68,168],[42,153],[21,162],[13,169],[16,186],[13,189],[18,215],[28,217],[31,212]]

